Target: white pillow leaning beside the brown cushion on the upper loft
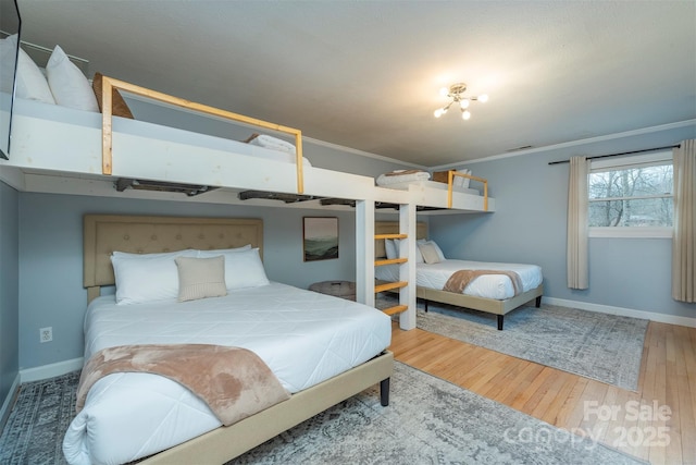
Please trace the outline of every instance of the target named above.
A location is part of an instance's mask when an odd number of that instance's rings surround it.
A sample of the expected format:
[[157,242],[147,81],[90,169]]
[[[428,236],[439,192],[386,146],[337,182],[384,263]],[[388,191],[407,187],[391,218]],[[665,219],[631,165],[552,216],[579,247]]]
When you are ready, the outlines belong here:
[[58,105],[99,112],[95,90],[87,76],[70,61],[60,46],[55,46],[46,65],[48,84]]

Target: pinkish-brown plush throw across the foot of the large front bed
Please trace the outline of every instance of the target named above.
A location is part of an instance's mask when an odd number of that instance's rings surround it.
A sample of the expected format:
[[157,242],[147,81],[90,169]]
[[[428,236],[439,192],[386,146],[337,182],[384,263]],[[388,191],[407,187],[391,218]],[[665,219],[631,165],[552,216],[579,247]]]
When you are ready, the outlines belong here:
[[150,372],[170,378],[204,401],[227,426],[290,397],[253,352],[208,344],[122,345],[96,353],[77,388],[79,412],[95,382],[114,372]]

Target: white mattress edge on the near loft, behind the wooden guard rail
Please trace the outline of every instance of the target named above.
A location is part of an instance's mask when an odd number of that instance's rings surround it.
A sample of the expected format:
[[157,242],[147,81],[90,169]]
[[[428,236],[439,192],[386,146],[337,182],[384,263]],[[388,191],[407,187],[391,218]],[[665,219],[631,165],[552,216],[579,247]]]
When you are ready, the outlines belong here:
[[[44,103],[36,100],[15,99],[13,115],[32,117],[60,122],[61,124],[91,127],[101,132],[101,113]],[[295,155],[287,151],[272,150],[252,144],[179,130],[147,121],[113,117],[113,129],[114,132],[126,133],[149,140],[178,143],[295,164]],[[99,145],[97,148],[101,149],[101,146]],[[311,167],[311,163],[307,158],[302,157],[302,166]]]

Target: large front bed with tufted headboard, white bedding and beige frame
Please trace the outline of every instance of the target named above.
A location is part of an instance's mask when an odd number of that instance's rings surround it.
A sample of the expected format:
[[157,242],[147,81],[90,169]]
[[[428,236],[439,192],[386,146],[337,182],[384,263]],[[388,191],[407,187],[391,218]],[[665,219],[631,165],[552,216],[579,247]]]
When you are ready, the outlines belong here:
[[[176,381],[150,372],[110,374],[89,389],[65,435],[70,463],[224,463],[377,382],[383,405],[388,403],[390,319],[355,302],[268,282],[260,220],[88,215],[84,224],[86,364],[102,350],[124,345],[243,347],[268,365],[290,396],[221,426]],[[111,258],[114,252],[121,258]],[[162,260],[173,260],[172,254],[223,255],[227,295],[153,299],[149,293],[171,291],[166,273],[149,274],[148,285],[138,281]],[[246,280],[241,286],[239,279]],[[114,282],[114,294],[99,295]]]

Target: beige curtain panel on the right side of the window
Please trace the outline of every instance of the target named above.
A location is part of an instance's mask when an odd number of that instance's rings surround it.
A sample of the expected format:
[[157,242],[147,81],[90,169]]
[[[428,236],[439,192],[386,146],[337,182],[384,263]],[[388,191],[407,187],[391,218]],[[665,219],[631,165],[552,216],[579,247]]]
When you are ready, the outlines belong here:
[[696,140],[684,140],[674,158],[672,298],[696,303]]

